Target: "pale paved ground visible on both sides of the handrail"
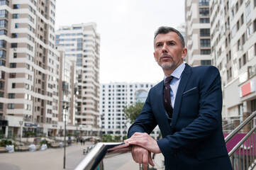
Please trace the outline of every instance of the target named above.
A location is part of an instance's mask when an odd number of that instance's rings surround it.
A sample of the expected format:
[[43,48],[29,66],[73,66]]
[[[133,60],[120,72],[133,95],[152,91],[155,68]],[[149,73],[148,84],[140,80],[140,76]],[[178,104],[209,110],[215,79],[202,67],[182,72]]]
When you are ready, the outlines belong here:
[[[89,147],[91,143],[85,145],[72,144],[66,147],[66,169],[74,169],[86,155],[83,149]],[[64,149],[47,149],[35,152],[14,152],[0,154],[0,170],[60,170],[63,169]],[[104,170],[130,170],[139,169],[139,165],[133,162],[130,153],[120,154],[115,157],[104,159]]]

